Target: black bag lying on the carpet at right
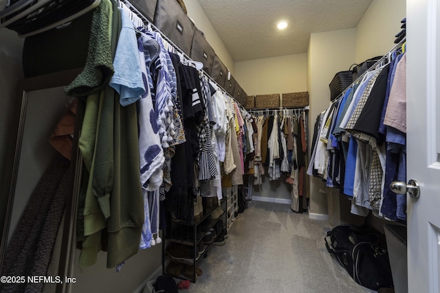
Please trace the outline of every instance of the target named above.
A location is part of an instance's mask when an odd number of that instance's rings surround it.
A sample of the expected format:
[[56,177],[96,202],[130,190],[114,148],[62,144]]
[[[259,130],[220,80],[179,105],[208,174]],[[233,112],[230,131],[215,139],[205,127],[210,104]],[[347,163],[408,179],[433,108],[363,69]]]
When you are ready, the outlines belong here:
[[371,290],[393,288],[385,236],[375,228],[336,226],[327,232],[325,246],[356,283]]

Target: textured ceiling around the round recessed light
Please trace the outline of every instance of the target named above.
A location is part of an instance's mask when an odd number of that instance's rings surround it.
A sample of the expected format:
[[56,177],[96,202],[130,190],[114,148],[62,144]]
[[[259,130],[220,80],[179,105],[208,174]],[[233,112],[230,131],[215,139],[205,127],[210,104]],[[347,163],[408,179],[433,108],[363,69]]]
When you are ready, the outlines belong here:
[[[307,51],[310,34],[355,27],[371,0],[198,0],[234,61]],[[278,30],[281,19],[289,26]]]

